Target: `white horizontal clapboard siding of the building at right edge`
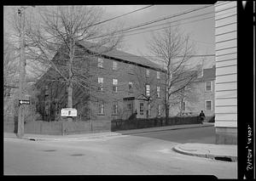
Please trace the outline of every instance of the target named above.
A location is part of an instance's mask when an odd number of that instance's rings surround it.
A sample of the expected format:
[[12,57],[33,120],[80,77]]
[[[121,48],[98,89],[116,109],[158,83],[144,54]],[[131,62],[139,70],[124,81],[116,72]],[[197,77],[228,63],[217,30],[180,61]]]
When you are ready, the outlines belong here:
[[215,4],[215,127],[237,127],[236,2]]

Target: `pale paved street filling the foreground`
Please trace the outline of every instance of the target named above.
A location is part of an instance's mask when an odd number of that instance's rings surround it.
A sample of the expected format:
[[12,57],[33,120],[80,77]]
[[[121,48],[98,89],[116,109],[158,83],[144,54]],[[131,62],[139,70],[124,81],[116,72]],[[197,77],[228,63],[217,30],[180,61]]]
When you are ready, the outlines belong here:
[[[198,130],[190,131],[187,133],[196,134]],[[177,133],[171,134],[182,137],[183,132],[184,130],[177,130]],[[155,133],[151,136],[156,137]],[[150,133],[143,136],[121,135],[77,141],[6,138],[4,174],[203,174],[215,175],[218,178],[236,178],[236,162],[178,154],[172,150],[176,144],[177,142],[165,138],[150,138]]]

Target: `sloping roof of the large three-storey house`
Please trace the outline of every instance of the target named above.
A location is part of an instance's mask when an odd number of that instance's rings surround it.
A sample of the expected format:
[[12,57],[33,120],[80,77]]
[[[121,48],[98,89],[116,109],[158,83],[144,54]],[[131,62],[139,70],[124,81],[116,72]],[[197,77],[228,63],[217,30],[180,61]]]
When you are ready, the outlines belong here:
[[118,49],[113,48],[110,51],[104,51],[104,49],[107,49],[106,47],[101,47],[101,48],[96,48],[96,45],[91,42],[84,42],[84,41],[79,41],[78,42],[81,46],[84,48],[88,48],[90,51],[95,52],[95,53],[100,53],[102,55],[105,55],[107,57],[117,59],[117,60],[125,60],[127,63],[133,63],[136,65],[143,65],[148,68],[152,68],[158,71],[163,71],[160,68],[160,65],[155,64],[154,62],[150,61],[149,59],[145,59],[143,57],[137,56],[135,54],[128,54],[123,51],[120,51]]

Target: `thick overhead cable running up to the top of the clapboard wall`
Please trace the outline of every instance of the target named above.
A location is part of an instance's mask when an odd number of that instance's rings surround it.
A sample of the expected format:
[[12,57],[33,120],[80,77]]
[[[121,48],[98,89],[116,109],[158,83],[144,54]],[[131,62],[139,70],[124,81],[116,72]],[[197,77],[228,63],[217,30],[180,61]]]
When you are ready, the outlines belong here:
[[[177,16],[181,16],[181,15],[183,15],[183,14],[189,14],[189,13],[192,13],[192,12],[195,12],[195,11],[198,11],[198,10],[201,10],[201,9],[203,9],[203,8],[209,8],[209,7],[212,7],[212,4],[211,4],[211,5],[204,6],[204,7],[201,7],[201,8],[192,8],[192,9],[189,9],[189,10],[187,10],[187,11],[184,11],[183,13],[173,14],[173,15],[171,15],[171,16],[166,16],[166,17],[161,18],[161,19],[158,19],[158,20],[148,21],[148,22],[145,22],[145,23],[140,24],[140,25],[134,25],[134,26],[128,27],[128,28],[126,28],[126,29],[123,29],[123,30],[120,30],[120,31],[116,31],[116,32],[114,32],[114,34],[116,34],[116,33],[118,33],[118,32],[129,31],[129,30],[132,30],[132,29],[135,29],[135,28],[144,26],[144,25],[150,25],[150,24],[153,24],[153,23],[162,21],[162,20],[168,20],[168,19],[171,19],[171,18],[174,18],[174,17],[177,17]],[[91,37],[91,38],[88,39],[88,40],[96,39],[96,38],[99,38],[99,37],[107,37],[107,36],[109,36],[109,35],[110,35],[110,34],[105,34],[105,35],[98,36],[98,37]]]

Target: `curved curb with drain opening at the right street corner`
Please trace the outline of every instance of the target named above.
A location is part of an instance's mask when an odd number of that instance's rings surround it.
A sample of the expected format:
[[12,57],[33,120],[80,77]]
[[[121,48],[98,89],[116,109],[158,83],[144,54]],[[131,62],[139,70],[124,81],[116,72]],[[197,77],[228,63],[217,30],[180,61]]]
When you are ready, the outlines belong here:
[[[188,156],[198,156],[198,157],[203,157],[203,158],[210,158],[210,159],[215,159],[215,160],[222,160],[221,158],[228,158],[230,161],[237,161],[237,156],[224,156],[224,155],[213,155],[213,154],[200,154],[200,153],[191,153],[189,151],[185,151],[180,149],[179,144],[177,144],[175,147],[172,148],[172,150],[176,151],[177,153],[183,154],[183,155],[188,155]],[[193,150],[195,151],[195,150]],[[219,159],[217,159],[219,158]]]

